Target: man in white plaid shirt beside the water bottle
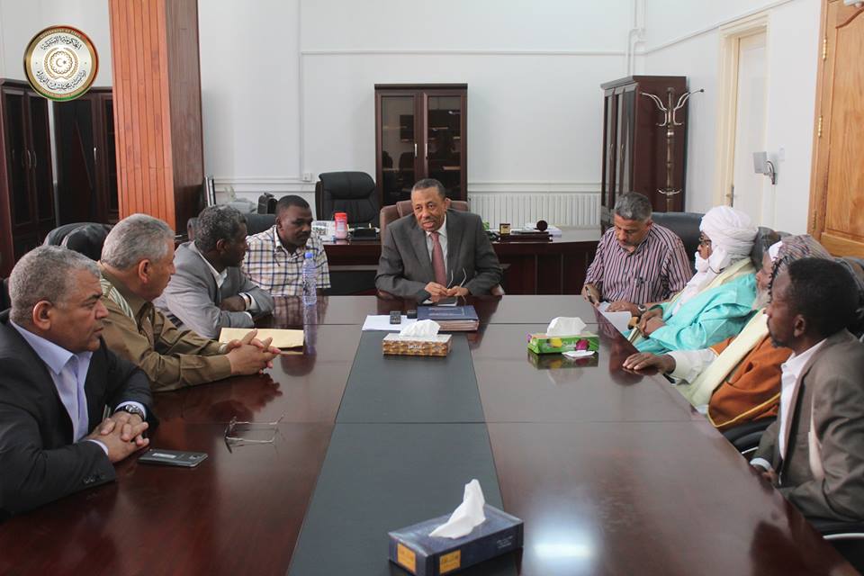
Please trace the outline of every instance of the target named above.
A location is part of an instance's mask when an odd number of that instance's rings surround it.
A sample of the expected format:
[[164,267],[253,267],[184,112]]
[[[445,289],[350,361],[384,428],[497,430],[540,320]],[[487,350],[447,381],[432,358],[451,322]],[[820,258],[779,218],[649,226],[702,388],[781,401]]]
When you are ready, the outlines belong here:
[[274,296],[302,296],[303,260],[315,255],[318,288],[330,287],[327,254],[318,236],[312,234],[312,211],[300,196],[284,196],[276,203],[276,223],[246,238],[248,248],[243,272]]

